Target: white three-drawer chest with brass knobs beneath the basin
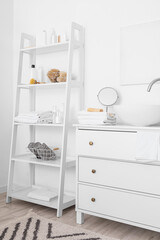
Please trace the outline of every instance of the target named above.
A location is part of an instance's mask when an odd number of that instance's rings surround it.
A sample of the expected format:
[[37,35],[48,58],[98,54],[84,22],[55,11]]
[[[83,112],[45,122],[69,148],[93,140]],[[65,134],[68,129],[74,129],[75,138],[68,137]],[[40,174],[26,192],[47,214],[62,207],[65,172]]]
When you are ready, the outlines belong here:
[[87,213],[160,232],[160,162],[135,159],[138,129],[77,125],[77,223]]

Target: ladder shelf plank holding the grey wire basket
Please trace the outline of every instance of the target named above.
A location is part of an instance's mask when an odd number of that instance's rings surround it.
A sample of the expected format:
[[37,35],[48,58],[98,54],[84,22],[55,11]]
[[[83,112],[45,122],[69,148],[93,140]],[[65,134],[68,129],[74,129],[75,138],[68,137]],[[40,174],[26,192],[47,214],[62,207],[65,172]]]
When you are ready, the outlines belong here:
[[[75,166],[75,157],[74,156],[68,156],[66,159],[66,167],[73,167]],[[60,168],[60,163],[61,163],[61,159],[58,158],[56,160],[41,160],[41,159],[37,159],[36,157],[34,157],[33,154],[22,154],[22,155],[18,155],[15,157],[11,158],[12,161],[15,162],[21,162],[21,163],[33,163],[35,165],[42,165],[42,166],[49,166],[49,167],[55,167],[55,168]]]

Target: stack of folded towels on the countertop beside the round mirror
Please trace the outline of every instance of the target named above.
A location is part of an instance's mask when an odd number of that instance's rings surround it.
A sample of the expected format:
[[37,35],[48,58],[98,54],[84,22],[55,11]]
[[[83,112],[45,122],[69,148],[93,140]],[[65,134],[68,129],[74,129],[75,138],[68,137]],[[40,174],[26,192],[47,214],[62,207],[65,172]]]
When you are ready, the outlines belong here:
[[79,124],[115,124],[116,118],[112,114],[106,112],[87,112],[80,111],[78,113]]

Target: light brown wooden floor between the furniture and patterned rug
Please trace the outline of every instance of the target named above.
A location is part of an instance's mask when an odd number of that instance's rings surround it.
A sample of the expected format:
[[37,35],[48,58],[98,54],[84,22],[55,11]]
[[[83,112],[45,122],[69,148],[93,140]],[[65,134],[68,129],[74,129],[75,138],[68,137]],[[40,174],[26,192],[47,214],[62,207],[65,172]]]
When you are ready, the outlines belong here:
[[[33,209],[34,212],[46,218],[55,219],[56,221],[76,226],[74,207],[68,208],[64,211],[61,218],[57,218],[56,210],[51,208],[15,199],[12,203],[6,204],[4,193],[0,194],[0,225],[7,223],[11,219],[25,215],[30,209]],[[104,234],[107,237],[121,240],[160,240],[160,233],[89,215],[85,216],[85,223],[78,226]]]

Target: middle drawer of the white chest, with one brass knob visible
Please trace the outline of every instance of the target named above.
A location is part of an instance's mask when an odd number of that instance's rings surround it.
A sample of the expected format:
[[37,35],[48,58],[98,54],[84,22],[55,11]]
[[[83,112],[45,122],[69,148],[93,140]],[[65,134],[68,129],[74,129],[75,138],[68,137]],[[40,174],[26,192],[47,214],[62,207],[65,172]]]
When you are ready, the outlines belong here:
[[160,166],[79,157],[78,180],[160,195]]

